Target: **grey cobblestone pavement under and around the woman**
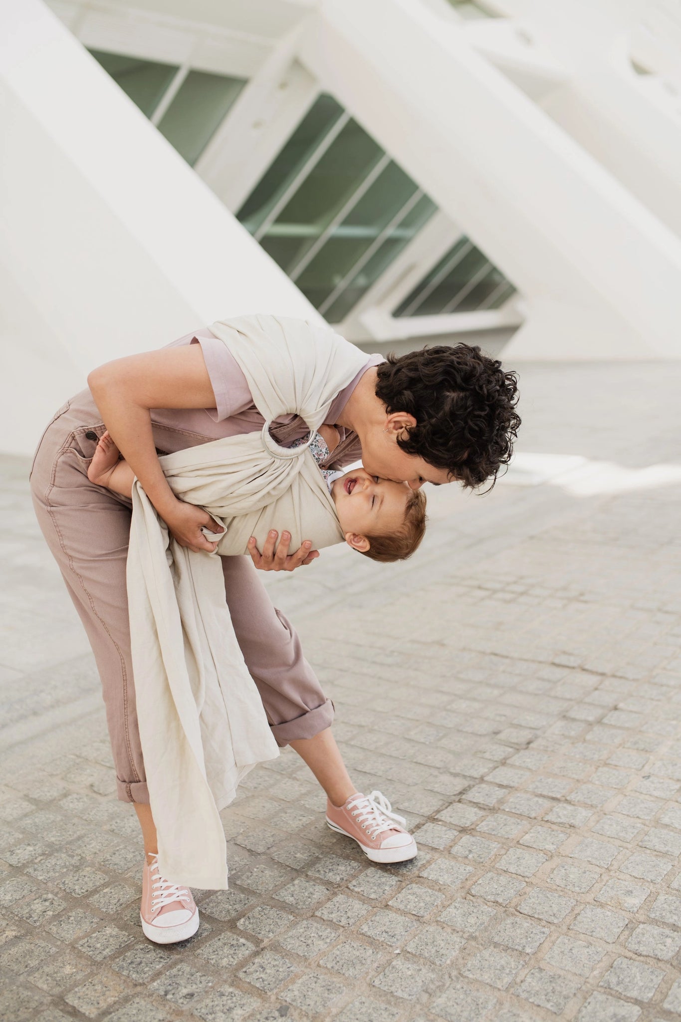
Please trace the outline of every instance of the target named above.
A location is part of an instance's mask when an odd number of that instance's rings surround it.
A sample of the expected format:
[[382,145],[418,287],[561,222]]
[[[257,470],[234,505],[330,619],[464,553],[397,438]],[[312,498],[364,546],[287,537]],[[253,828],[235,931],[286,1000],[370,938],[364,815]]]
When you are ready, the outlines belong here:
[[[681,366],[522,373],[522,449],[681,461]],[[229,892],[141,933],[85,637],[2,461],[0,1016],[635,1022],[681,1015],[678,485],[432,492],[414,562],[269,577],[357,786],[420,854],[373,867],[291,750],[225,814]]]

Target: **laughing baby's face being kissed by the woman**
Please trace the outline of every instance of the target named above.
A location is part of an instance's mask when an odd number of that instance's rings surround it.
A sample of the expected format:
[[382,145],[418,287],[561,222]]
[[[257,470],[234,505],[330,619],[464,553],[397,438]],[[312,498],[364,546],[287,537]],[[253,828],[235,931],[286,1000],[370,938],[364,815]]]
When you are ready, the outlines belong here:
[[331,486],[340,526],[356,536],[388,536],[404,522],[410,497],[406,482],[391,482],[353,468]]

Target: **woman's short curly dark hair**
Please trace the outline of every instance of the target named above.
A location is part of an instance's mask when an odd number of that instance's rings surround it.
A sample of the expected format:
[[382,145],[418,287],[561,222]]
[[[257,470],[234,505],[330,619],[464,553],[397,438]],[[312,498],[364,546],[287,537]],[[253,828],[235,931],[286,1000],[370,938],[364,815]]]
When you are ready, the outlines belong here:
[[477,344],[389,355],[377,370],[376,397],[388,415],[408,412],[417,420],[397,439],[402,451],[470,489],[491,478],[491,490],[510,461],[521,424],[516,373],[504,372]]

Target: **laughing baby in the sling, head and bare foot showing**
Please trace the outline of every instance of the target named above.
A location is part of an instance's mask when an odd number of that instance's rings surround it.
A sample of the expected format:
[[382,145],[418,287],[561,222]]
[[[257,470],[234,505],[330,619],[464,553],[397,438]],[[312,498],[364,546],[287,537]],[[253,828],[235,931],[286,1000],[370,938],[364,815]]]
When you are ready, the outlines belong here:
[[[321,465],[338,444],[333,426],[321,426],[312,436],[310,454]],[[291,447],[305,443],[298,440]],[[363,468],[342,473],[320,468],[325,476],[345,542],[375,561],[399,561],[410,557],[426,531],[426,497],[406,482],[392,482],[370,475]],[[119,460],[119,452],[108,432],[95,451],[88,478],[123,497],[131,497],[133,470]],[[286,523],[282,522],[285,527]]]

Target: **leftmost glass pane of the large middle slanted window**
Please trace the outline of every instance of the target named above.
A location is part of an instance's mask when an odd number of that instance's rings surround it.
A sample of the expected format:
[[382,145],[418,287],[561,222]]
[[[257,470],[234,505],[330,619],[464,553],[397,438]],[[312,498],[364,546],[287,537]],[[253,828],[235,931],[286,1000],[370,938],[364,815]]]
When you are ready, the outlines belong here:
[[333,96],[321,95],[237,214],[254,234],[291,182],[343,114]]

